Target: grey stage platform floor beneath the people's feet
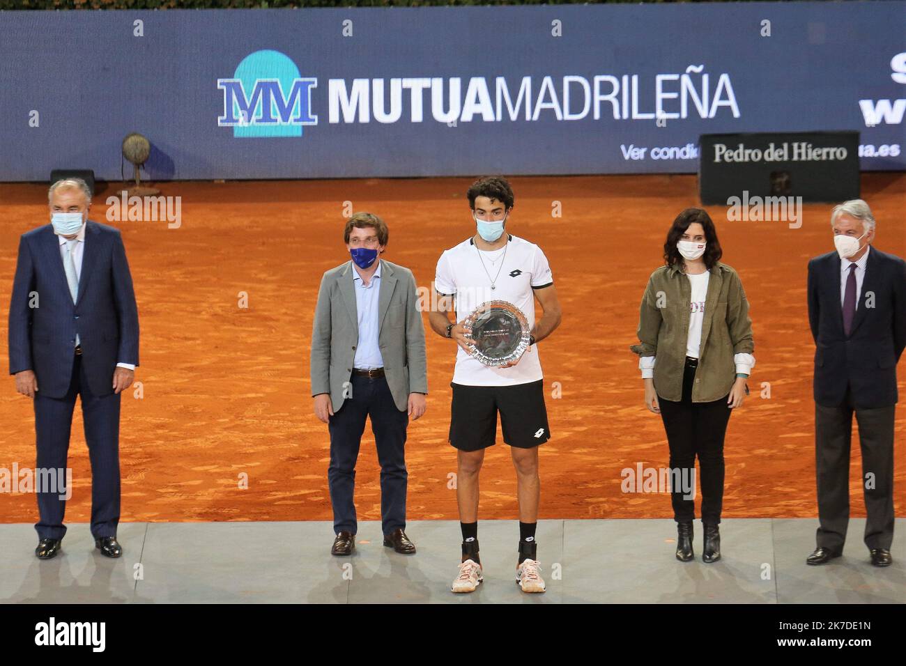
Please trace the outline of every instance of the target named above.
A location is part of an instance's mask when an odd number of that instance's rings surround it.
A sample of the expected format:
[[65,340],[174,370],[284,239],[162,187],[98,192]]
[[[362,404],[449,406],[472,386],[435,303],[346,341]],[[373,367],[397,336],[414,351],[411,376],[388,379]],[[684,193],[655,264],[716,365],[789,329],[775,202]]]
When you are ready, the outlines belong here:
[[[728,519],[722,561],[673,556],[672,520],[543,520],[538,557],[545,594],[516,586],[516,521],[479,522],[485,584],[452,594],[459,526],[412,521],[417,555],[381,544],[381,525],[359,526],[352,557],[330,555],[326,522],[121,523],[120,559],[94,549],[85,524],[68,525],[63,551],[34,556],[34,526],[0,526],[3,603],[903,603],[906,525],[897,520],[894,563],[868,562],[864,520],[850,522],[843,557],[807,566],[814,519]],[[365,543],[362,543],[365,542]],[[140,580],[134,572],[141,565]]]

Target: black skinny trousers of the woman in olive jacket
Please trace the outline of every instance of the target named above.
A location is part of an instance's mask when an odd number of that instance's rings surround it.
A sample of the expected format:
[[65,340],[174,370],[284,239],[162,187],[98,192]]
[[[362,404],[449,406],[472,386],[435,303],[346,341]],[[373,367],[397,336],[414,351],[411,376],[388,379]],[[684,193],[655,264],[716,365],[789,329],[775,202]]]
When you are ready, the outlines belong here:
[[[670,501],[674,520],[678,523],[694,520],[695,500],[690,497],[689,489],[700,489],[701,520],[717,525],[724,501],[724,435],[733,410],[727,406],[729,394],[712,402],[692,402],[697,367],[698,359],[687,356],[679,402],[658,396],[660,418],[670,444],[670,478],[674,479]],[[698,476],[695,475],[696,455],[699,456]],[[677,483],[680,480],[681,486]],[[694,484],[688,486],[693,480]]]

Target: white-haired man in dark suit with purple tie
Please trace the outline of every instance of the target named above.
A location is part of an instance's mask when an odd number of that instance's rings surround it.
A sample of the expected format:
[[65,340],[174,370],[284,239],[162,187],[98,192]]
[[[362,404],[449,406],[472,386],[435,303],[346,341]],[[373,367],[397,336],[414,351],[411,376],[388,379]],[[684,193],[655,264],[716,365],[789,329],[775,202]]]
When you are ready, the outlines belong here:
[[862,447],[872,565],[892,562],[893,412],[896,366],[906,347],[906,262],[872,246],[875,220],[862,199],[834,208],[836,252],[808,263],[808,318],[814,354],[817,548],[824,565],[843,555],[849,522],[853,411]]

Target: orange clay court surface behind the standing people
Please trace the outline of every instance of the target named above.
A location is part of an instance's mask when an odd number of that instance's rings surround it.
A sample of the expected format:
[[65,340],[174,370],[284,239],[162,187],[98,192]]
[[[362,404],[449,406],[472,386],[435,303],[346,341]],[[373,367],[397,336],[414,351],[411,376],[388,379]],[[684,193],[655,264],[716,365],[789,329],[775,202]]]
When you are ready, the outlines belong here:
[[[330,520],[327,427],[309,385],[312,314],[323,271],[346,261],[344,202],[390,227],[384,255],[430,288],[440,252],[474,233],[466,190],[473,179],[173,182],[181,227],[111,223],[122,230],[140,315],[143,397],[123,395],[122,518],[128,521]],[[906,256],[906,174],[863,174],[878,220],[875,246]],[[623,468],[666,467],[660,417],[645,410],[629,345],[642,290],[661,264],[670,222],[699,205],[694,176],[514,178],[507,230],[540,245],[563,305],[560,328],[540,344],[552,439],[541,449],[541,518],[672,516],[670,498],[624,494]],[[101,188],[91,218],[106,222]],[[18,238],[47,223],[47,186],[0,185],[0,291],[5,383],[0,391],[0,468],[34,467],[34,412],[15,392],[5,349]],[[117,195],[118,196],[118,195]],[[552,217],[554,202],[563,217]],[[737,269],[755,333],[751,395],[729,422],[725,517],[814,517],[814,344],[805,304],[809,257],[833,251],[831,205],[807,205],[786,222],[718,227],[723,261]],[[240,293],[248,307],[239,307]],[[456,452],[447,442],[454,343],[431,332],[428,411],[410,423],[408,518],[456,519],[448,487]],[[906,510],[906,369],[895,433],[894,502]],[[561,396],[552,397],[553,382]],[[770,382],[770,398],[759,397]],[[133,387],[134,388],[134,387]],[[853,420],[854,421],[854,420]],[[79,409],[69,463],[68,522],[87,522],[90,466]],[[380,519],[380,468],[366,428],[356,477],[359,518]],[[247,489],[239,487],[246,474]],[[861,456],[853,434],[853,516],[864,516]],[[698,509],[698,501],[697,501]],[[0,521],[34,523],[34,495],[4,494]],[[516,477],[500,438],[481,476],[479,519],[516,518]]]

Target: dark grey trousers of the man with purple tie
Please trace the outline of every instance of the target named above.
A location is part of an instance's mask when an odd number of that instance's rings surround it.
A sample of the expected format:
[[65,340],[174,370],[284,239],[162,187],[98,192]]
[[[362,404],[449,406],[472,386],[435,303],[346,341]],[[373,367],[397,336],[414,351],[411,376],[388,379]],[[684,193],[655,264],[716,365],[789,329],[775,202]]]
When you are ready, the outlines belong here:
[[893,542],[893,412],[896,405],[853,408],[849,387],[843,404],[814,405],[815,470],[818,487],[818,546],[843,552],[849,524],[850,439],[853,411],[862,449],[865,545],[890,550]]

